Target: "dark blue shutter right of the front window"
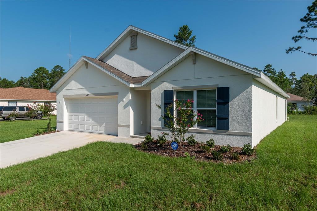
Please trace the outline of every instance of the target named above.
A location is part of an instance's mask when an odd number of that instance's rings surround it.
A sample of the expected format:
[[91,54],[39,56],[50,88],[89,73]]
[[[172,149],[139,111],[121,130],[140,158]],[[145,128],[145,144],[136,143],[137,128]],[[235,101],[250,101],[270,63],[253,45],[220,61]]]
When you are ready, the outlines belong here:
[[229,131],[229,87],[217,88],[217,130]]

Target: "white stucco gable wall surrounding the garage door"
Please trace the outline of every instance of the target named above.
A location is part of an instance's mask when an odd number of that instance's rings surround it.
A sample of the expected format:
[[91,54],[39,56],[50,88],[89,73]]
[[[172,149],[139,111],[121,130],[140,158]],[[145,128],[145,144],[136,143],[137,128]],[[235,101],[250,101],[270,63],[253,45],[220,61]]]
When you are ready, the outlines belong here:
[[[67,98],[63,95],[113,93],[118,92],[118,136],[130,135],[130,88],[120,81],[107,75],[100,69],[88,64],[86,69],[82,65],[63,85],[56,91],[57,100],[57,130],[67,130]],[[89,97],[89,96],[88,96]],[[133,117],[132,117],[133,118]],[[63,122],[59,122],[63,121]]]

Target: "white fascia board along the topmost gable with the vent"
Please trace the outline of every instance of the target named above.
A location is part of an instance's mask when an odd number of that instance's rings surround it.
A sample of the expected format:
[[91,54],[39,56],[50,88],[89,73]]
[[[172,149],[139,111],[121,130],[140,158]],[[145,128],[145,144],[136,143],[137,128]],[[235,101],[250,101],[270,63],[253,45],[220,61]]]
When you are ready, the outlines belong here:
[[119,43],[124,39],[126,38],[132,31],[137,31],[139,33],[142,33],[144,35],[147,35],[147,36],[150,36],[150,37],[153,37],[155,39],[158,39],[160,41],[163,41],[163,42],[166,42],[166,43],[169,43],[173,46],[176,46],[178,48],[182,48],[182,49],[187,49],[188,47],[183,45],[183,44],[180,44],[178,42],[174,42],[174,41],[171,41],[165,37],[161,37],[159,35],[156,35],[156,34],[153,34],[151,32],[148,32],[148,31],[145,31],[143,29],[139,29],[137,27],[134,27],[134,26],[129,26],[128,28],[126,28],[126,30],[124,30],[101,54],[99,54],[96,59],[97,60],[103,60],[115,47],[117,47],[117,45],[119,45]]

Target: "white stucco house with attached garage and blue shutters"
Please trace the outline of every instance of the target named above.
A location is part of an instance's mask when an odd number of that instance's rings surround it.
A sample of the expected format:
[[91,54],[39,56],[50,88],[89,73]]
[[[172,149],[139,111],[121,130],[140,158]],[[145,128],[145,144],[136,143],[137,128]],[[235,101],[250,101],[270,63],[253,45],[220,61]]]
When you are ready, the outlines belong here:
[[97,58],[82,56],[51,88],[57,130],[130,137],[167,131],[164,106],[194,99],[198,141],[256,146],[286,118],[280,87],[262,72],[129,26]]

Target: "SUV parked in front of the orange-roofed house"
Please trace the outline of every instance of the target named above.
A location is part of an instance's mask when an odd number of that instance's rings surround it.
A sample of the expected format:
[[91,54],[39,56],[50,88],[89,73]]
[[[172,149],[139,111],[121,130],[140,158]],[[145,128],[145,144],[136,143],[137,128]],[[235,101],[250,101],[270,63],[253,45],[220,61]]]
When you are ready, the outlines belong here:
[[[28,117],[25,115],[26,112],[29,111],[29,107],[26,106],[1,106],[0,107],[0,115],[4,120],[15,120],[15,117],[8,117],[10,113],[12,112],[17,112],[18,113],[18,118],[20,117]],[[41,111],[38,111],[36,114],[37,119],[41,119],[43,116],[43,113]]]

